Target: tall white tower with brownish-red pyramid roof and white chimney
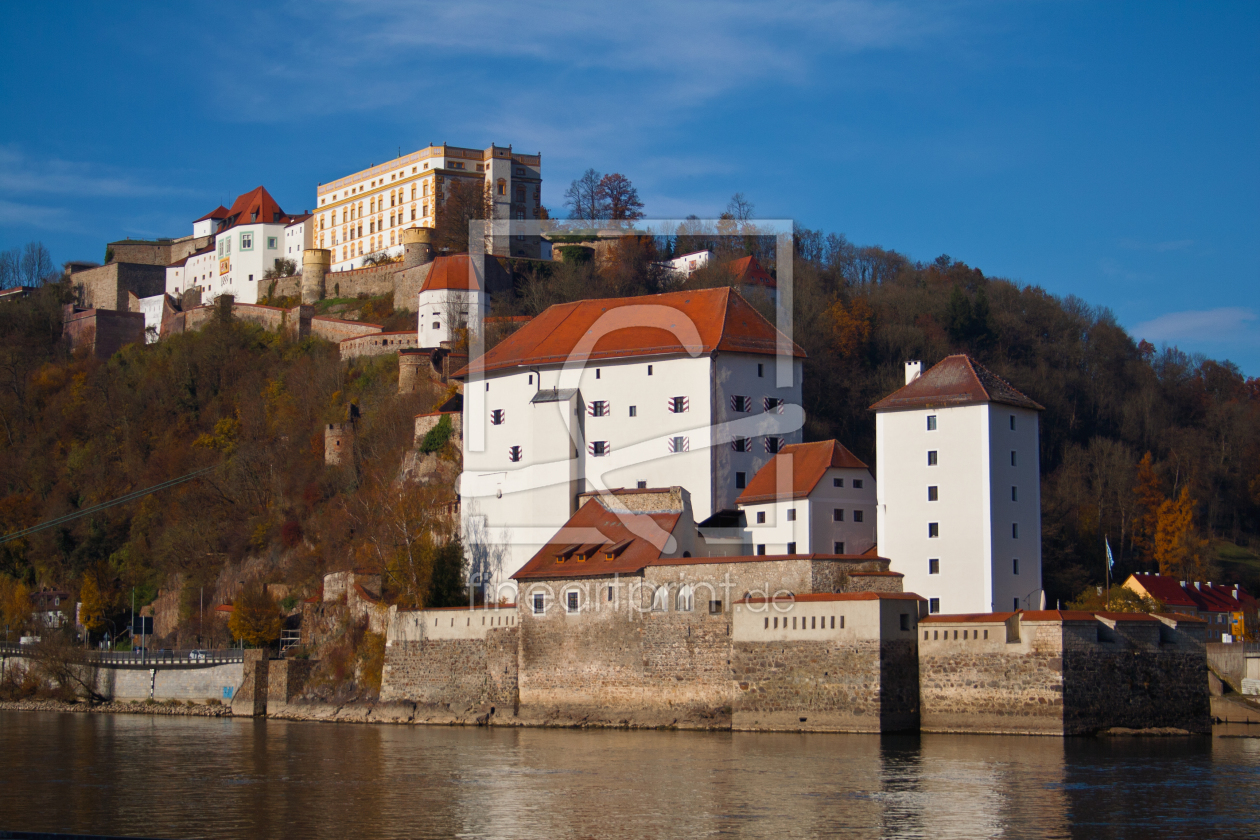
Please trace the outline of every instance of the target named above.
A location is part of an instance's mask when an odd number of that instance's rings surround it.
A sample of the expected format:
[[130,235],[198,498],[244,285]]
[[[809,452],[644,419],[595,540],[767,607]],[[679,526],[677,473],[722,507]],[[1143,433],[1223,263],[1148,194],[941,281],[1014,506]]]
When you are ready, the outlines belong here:
[[879,554],[931,612],[1042,608],[1043,408],[966,355],[920,370],[871,407]]

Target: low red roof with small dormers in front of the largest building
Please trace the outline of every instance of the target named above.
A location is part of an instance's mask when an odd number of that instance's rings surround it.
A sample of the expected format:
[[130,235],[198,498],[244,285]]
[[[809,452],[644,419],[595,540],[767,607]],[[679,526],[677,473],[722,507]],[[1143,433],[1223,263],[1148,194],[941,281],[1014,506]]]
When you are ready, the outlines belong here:
[[[590,499],[551,542],[513,574],[515,581],[635,573],[660,559],[660,549],[635,531],[673,533],[682,511],[627,514]],[[649,521],[650,520],[650,521]],[[634,530],[631,530],[634,528]],[[611,560],[606,555],[612,552]]]

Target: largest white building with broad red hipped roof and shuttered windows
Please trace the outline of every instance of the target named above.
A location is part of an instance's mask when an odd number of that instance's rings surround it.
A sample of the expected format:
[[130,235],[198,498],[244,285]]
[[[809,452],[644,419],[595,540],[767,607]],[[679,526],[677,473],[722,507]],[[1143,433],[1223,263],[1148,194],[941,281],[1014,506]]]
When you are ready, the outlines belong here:
[[499,582],[583,492],[683,486],[701,519],[735,510],[741,476],[800,441],[804,356],[723,287],[552,306],[474,359],[460,495]]

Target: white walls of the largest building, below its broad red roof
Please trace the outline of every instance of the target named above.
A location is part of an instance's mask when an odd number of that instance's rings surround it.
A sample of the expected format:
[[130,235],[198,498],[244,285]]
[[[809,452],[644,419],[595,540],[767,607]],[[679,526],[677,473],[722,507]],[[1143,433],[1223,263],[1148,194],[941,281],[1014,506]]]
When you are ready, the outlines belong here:
[[[775,387],[775,358],[717,353],[627,356],[507,369],[465,388],[465,544],[501,549],[507,581],[573,514],[577,495],[682,486],[696,520],[733,510],[736,474],[753,475],[780,445],[800,441],[801,360]],[[747,411],[733,411],[732,397]],[[766,409],[766,399],[784,400]],[[501,413],[500,413],[501,412]],[[752,438],[735,451],[735,437]]]

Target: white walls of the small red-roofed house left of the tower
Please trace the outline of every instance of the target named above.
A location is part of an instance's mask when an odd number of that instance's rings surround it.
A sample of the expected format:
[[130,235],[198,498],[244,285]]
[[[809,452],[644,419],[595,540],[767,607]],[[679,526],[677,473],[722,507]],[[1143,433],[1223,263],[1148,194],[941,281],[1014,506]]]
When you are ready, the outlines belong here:
[[862,554],[876,544],[868,470],[829,467],[806,496],[741,504],[751,554]]

